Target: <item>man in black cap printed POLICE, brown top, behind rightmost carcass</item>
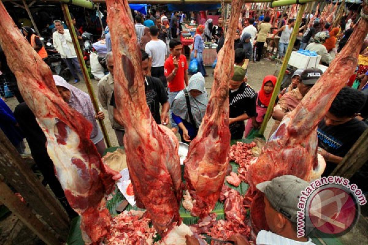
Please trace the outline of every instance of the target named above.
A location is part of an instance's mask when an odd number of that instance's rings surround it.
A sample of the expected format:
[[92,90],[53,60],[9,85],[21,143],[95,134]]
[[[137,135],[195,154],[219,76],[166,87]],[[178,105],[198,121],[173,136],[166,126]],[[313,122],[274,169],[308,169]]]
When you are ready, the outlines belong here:
[[299,102],[313,87],[321,75],[322,71],[318,68],[308,68],[301,73],[298,87],[284,94],[275,108],[273,108],[272,118],[275,119],[276,122],[272,127],[271,133],[277,129],[284,116],[297,107]]

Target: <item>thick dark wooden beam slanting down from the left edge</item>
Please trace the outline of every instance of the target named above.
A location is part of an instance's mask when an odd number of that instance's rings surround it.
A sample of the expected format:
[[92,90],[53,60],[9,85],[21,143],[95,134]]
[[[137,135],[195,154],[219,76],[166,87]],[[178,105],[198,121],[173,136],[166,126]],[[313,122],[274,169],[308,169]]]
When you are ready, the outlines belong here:
[[[0,130],[0,175],[17,190],[42,219],[66,241],[69,219],[60,203],[41,184],[17,149]],[[9,207],[16,208],[16,207]]]

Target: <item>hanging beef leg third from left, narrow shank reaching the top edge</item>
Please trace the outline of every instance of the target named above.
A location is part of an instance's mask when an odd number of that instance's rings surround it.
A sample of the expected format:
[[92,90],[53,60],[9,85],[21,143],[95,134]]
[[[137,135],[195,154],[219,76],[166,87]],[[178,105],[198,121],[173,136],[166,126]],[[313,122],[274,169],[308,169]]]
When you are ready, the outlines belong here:
[[214,208],[229,165],[229,81],[233,74],[234,36],[242,4],[241,0],[231,2],[230,24],[217,58],[206,114],[184,161],[187,190],[194,198],[191,210],[194,216],[205,217]]

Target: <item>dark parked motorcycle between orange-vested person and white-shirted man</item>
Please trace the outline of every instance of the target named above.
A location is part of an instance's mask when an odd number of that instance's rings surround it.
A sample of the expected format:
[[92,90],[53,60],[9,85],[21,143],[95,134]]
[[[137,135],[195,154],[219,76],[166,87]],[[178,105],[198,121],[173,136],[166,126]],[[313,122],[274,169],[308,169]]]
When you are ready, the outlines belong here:
[[62,60],[61,55],[55,50],[52,39],[49,39],[45,44],[45,49],[47,52],[47,58],[45,59],[46,64],[50,67],[51,71],[56,73],[56,75],[61,76],[67,82],[71,77],[71,72],[65,62]]

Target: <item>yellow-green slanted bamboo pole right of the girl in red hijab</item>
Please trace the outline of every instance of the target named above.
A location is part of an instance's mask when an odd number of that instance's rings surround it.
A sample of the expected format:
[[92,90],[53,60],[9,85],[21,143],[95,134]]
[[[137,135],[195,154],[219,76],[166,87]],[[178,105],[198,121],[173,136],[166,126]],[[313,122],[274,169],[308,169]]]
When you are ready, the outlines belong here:
[[289,62],[289,58],[290,58],[291,52],[293,51],[293,47],[294,47],[296,37],[299,33],[298,26],[300,26],[304,10],[305,10],[305,4],[301,4],[298,15],[297,15],[297,19],[295,21],[295,26],[293,28],[293,32],[291,33],[291,36],[290,36],[290,43],[289,43],[289,46],[287,46],[284,61],[282,62],[282,66],[281,66],[281,69],[280,69],[280,72],[279,72],[279,76],[277,76],[277,82],[276,82],[275,88],[273,89],[272,97],[271,97],[270,103],[268,105],[265,118],[263,119],[261,128],[259,129],[259,134],[263,134],[265,132],[268,120],[271,117],[271,114],[272,114],[272,111],[273,111],[273,105],[275,104],[276,97],[280,92],[281,82],[284,78],[284,73],[285,73],[285,70],[286,70],[286,67],[287,67],[287,63]]

